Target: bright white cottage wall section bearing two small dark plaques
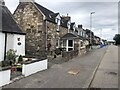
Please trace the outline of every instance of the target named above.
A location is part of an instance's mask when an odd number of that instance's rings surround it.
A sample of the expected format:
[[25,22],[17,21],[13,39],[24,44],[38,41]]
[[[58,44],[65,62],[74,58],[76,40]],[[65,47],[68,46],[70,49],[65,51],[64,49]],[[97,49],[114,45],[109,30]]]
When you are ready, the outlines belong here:
[[[18,41],[20,38],[20,41]],[[18,45],[18,43],[21,45]],[[14,34],[14,50],[17,50],[17,55],[25,56],[25,35]]]

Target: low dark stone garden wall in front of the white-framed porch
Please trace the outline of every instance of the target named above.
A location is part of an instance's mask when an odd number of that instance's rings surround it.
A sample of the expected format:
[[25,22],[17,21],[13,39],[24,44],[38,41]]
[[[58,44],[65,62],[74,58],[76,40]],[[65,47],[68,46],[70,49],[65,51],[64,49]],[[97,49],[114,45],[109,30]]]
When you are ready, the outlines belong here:
[[62,52],[62,60],[68,61],[68,60],[78,56],[78,53],[79,53],[78,50],[68,51],[68,52],[64,51],[64,52]]

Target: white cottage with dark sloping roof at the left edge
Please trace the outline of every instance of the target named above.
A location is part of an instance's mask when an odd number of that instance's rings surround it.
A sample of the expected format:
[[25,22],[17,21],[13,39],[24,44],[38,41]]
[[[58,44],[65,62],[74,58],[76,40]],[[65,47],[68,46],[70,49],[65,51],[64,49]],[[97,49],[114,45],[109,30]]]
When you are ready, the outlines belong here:
[[6,53],[10,49],[17,55],[25,56],[25,33],[15,22],[5,2],[0,2],[0,61],[6,59]]

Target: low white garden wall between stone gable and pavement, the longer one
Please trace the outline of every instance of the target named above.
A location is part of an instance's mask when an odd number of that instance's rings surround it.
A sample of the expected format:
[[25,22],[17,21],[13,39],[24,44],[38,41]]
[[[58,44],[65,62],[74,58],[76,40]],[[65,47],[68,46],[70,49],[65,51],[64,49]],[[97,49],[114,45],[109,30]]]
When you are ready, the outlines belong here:
[[27,64],[27,65],[23,64],[22,74],[25,76],[29,76],[29,75],[34,74],[36,72],[46,70],[47,67],[48,67],[48,60],[47,59],[39,61],[39,62]]

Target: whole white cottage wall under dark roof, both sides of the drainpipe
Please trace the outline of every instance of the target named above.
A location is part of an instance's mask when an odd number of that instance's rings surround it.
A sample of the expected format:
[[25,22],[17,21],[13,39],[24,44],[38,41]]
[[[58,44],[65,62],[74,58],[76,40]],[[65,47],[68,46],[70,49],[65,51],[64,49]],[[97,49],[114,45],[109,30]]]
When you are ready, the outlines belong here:
[[[20,38],[20,41],[18,41]],[[21,45],[18,45],[21,42]],[[0,61],[4,60],[5,33],[0,32]],[[25,56],[25,35],[7,34],[6,52],[9,49],[17,50],[17,55]]]

